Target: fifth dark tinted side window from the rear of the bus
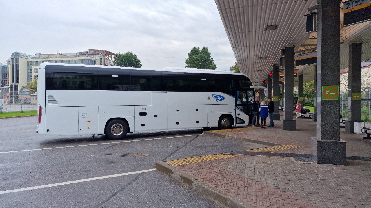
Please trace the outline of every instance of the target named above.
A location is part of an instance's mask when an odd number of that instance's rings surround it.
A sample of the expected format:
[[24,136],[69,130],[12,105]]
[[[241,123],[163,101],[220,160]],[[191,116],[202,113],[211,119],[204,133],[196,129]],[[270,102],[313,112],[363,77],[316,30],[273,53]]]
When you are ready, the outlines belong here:
[[192,91],[193,92],[214,92],[215,74],[192,74]]

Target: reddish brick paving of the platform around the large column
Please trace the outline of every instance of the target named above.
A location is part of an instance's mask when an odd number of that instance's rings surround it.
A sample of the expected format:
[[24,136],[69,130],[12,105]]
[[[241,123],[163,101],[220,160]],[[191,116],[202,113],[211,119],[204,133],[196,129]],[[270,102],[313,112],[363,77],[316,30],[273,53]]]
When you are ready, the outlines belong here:
[[[282,131],[282,121],[275,121],[274,128],[218,133],[298,145],[276,152],[311,154],[314,124],[300,118],[297,131]],[[371,156],[371,141],[340,131],[347,141],[347,155]],[[371,208],[371,161],[323,165],[295,162],[291,157],[239,155],[174,168],[257,208]]]

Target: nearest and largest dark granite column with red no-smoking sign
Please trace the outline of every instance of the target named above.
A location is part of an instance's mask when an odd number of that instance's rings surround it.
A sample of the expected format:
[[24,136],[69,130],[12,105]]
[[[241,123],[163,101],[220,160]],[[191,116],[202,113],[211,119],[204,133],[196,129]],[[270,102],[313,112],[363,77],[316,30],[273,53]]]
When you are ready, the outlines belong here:
[[340,140],[339,100],[322,100],[323,85],[340,84],[339,1],[318,0],[317,12],[317,134],[312,137],[312,159],[344,165],[346,141]]

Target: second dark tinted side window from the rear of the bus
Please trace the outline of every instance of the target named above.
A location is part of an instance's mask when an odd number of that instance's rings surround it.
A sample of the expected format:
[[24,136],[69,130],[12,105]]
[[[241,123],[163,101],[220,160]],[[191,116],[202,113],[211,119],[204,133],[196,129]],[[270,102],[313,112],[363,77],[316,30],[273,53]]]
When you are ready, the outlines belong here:
[[99,69],[99,90],[134,90],[127,69]]

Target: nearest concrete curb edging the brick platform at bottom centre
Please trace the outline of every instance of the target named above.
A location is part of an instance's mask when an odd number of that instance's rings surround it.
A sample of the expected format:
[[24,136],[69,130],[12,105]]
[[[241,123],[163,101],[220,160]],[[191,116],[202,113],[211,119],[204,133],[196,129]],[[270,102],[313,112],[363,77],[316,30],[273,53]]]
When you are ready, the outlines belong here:
[[174,177],[176,180],[196,189],[197,192],[204,194],[210,198],[215,199],[220,204],[225,205],[229,208],[256,208],[246,202],[232,198],[231,195],[224,193],[223,191],[218,190],[217,188],[212,187],[211,185],[197,181],[196,178],[181,172],[174,168],[173,166],[167,164],[163,161],[157,161],[155,164],[155,168],[167,175]]

